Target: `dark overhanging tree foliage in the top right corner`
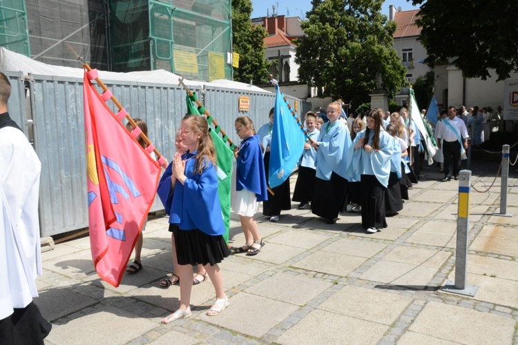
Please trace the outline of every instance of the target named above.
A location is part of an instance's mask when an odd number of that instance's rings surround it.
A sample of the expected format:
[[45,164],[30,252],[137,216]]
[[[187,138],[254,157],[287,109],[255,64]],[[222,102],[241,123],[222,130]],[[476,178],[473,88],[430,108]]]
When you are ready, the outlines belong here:
[[421,3],[421,42],[425,62],[452,63],[464,77],[498,80],[518,72],[518,1],[414,0]]

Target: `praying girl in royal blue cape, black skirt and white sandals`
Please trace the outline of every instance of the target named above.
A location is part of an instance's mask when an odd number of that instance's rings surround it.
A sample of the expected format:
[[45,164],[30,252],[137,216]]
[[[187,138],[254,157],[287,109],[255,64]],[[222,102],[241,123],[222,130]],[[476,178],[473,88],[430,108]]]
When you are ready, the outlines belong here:
[[215,289],[215,304],[207,315],[218,315],[229,305],[218,266],[224,257],[229,256],[229,250],[222,236],[225,227],[209,124],[200,115],[186,115],[180,130],[189,153],[175,153],[157,190],[169,213],[169,230],[175,237],[180,277],[180,308],[165,317],[162,320],[164,324],[191,316],[191,265],[203,265]]

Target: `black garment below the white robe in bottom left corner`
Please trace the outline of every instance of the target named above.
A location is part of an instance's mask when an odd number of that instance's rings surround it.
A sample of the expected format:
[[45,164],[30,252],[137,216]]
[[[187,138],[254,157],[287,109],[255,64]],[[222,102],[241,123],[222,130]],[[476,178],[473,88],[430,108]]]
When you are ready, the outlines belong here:
[[37,305],[30,302],[0,320],[0,344],[44,344],[51,329],[52,324],[41,316]]

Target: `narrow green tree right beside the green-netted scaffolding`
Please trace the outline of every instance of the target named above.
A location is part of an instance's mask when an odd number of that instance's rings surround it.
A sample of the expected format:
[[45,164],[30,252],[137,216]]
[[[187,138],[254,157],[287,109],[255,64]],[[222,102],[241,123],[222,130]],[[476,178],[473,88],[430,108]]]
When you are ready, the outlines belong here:
[[267,33],[262,26],[252,25],[251,12],[251,0],[232,0],[232,47],[239,54],[234,80],[262,84],[269,81],[270,63],[265,59],[263,42]]

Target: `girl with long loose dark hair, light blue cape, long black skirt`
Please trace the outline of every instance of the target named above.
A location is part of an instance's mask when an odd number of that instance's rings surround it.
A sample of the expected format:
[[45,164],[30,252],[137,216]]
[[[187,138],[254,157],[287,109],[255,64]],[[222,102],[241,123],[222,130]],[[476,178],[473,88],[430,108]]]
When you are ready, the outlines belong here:
[[349,148],[347,172],[360,181],[364,193],[361,225],[367,233],[387,227],[385,220],[385,188],[390,176],[393,146],[383,129],[383,115],[373,109],[367,115],[367,128],[356,135]]

